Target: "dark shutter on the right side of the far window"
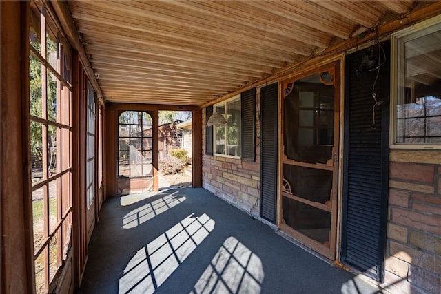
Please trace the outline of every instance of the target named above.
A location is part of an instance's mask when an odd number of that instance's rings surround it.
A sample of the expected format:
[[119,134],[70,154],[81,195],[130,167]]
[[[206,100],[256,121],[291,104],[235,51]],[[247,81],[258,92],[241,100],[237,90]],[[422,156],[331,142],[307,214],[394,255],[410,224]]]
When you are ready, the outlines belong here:
[[255,160],[256,146],[254,144],[254,129],[256,125],[256,88],[243,92],[242,107],[242,158]]

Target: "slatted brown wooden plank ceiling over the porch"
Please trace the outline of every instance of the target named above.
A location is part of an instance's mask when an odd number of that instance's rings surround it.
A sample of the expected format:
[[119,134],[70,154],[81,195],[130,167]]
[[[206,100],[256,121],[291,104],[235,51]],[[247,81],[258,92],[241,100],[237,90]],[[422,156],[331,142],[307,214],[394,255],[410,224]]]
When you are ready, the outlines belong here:
[[105,101],[204,105],[415,1],[69,1]]

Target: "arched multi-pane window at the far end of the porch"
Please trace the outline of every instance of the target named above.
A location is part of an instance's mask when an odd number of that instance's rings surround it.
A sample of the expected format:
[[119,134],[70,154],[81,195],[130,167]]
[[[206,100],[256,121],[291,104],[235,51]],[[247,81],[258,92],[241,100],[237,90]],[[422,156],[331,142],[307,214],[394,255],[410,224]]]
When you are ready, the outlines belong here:
[[121,113],[118,134],[118,176],[153,176],[152,116],[137,111]]

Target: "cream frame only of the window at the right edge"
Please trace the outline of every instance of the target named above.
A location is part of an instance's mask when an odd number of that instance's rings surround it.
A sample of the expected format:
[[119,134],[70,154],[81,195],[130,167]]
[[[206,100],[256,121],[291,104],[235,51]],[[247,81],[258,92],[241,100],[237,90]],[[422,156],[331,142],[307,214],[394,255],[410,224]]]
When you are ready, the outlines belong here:
[[[400,79],[404,78],[404,63],[400,63],[400,57],[404,56],[404,46],[400,43],[416,39],[429,32],[424,31],[427,28],[433,27],[433,32],[441,30],[441,15],[422,21],[412,25],[409,28],[400,30],[391,34],[391,107],[390,107],[390,132],[389,132],[389,147],[391,149],[441,149],[441,143],[399,143],[397,142],[397,103],[398,95],[402,91],[400,86]],[[420,32],[420,34],[418,34]],[[400,54],[402,52],[402,54]]]

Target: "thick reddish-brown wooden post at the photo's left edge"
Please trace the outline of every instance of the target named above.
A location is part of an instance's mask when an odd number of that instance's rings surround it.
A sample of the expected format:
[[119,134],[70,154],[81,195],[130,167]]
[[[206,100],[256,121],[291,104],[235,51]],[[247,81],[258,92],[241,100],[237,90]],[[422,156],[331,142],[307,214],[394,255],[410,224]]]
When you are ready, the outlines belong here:
[[28,1],[0,1],[0,292],[5,294],[35,291],[28,15]]

